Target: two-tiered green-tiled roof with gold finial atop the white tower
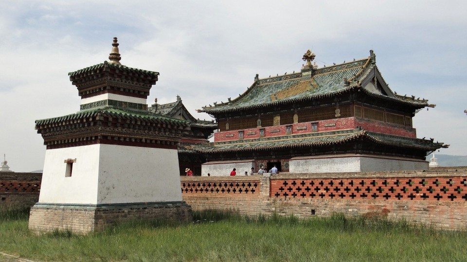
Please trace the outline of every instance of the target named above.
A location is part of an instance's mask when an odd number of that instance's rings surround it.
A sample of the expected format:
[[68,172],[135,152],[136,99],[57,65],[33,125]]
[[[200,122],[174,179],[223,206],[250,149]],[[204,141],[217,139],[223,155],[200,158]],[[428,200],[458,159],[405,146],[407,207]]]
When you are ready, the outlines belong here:
[[120,64],[117,38],[110,61],[69,73],[82,98],[113,93],[126,98],[106,99],[81,105],[75,114],[36,120],[47,148],[112,144],[137,147],[177,148],[189,123],[147,111],[146,97],[159,73]]

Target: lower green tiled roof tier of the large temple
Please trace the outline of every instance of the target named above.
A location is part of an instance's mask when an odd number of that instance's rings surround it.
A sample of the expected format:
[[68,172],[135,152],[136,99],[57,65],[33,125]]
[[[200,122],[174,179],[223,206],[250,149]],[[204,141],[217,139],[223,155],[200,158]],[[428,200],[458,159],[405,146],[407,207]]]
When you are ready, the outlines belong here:
[[317,132],[277,137],[264,137],[225,142],[214,142],[193,146],[193,150],[201,153],[257,151],[267,149],[281,149],[291,147],[326,146],[346,143],[354,139],[365,138],[371,142],[403,148],[416,148],[426,151],[438,149],[443,143],[433,143],[431,140],[407,138],[380,133],[368,132],[361,129]]

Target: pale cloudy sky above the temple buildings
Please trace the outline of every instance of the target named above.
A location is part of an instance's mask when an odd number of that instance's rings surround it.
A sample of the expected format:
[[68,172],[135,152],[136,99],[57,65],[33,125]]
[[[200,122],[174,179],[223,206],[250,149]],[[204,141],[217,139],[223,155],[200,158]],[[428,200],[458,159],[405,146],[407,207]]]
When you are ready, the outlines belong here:
[[[36,119],[75,113],[68,72],[108,60],[160,72],[148,104],[180,95],[190,113],[243,93],[260,78],[369,56],[398,94],[429,99],[417,136],[467,155],[466,1],[18,1],[0,2],[0,153],[11,170],[42,169]],[[2,157],[3,160],[3,157]]]

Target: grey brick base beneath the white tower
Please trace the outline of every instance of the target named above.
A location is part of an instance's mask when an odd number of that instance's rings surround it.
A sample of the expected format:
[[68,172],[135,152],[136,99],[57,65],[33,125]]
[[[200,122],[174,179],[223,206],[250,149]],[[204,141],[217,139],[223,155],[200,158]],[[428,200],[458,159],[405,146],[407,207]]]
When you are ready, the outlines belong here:
[[192,210],[185,201],[108,205],[36,203],[31,208],[29,229],[35,232],[71,230],[86,234],[135,220],[189,223],[191,219]]

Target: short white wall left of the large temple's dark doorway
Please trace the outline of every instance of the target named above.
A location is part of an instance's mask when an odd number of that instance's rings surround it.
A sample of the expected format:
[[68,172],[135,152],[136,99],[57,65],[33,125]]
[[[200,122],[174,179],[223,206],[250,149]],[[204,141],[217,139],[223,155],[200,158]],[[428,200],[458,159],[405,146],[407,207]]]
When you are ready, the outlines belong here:
[[237,176],[244,176],[245,171],[250,173],[251,167],[254,167],[254,160],[207,162],[201,165],[201,176],[206,177],[208,173],[213,177],[230,176],[234,168]]

